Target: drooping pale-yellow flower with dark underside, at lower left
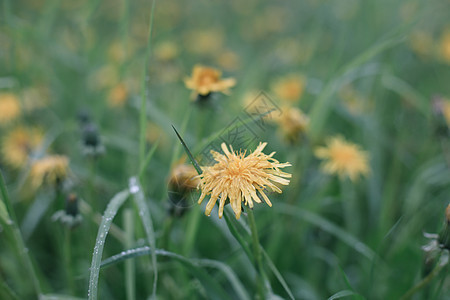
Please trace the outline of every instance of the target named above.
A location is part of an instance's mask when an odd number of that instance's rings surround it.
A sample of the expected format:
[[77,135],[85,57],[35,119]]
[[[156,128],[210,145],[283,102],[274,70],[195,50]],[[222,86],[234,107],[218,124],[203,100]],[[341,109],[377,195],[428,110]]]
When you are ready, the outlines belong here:
[[69,159],[64,155],[51,155],[34,161],[30,178],[34,188],[44,183],[58,184],[69,172]]

